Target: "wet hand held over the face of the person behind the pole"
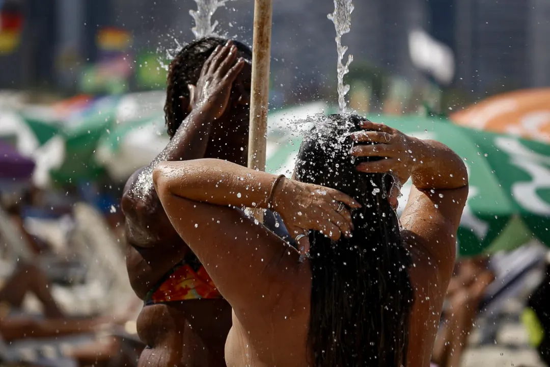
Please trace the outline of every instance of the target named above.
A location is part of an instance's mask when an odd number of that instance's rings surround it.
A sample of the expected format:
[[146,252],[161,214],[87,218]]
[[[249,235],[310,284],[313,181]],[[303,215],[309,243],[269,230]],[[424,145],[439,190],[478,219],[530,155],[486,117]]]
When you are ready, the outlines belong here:
[[221,117],[244,64],[243,58],[237,60],[237,47],[231,41],[216,47],[204,63],[197,85],[188,86],[191,108],[204,107],[214,119]]

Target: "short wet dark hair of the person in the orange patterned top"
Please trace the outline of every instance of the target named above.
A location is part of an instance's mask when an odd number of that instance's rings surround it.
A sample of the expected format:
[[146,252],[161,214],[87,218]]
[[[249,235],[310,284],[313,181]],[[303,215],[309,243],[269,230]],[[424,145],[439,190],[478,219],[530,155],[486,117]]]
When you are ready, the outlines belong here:
[[[183,111],[180,97],[189,99],[189,84],[196,84],[202,70],[202,65],[216,46],[224,45],[228,40],[221,37],[203,37],[185,45],[180,50],[168,69],[166,103],[164,103],[164,119],[168,128],[168,136],[172,138],[187,112]],[[252,50],[244,43],[233,40],[237,50],[245,57],[252,59]]]

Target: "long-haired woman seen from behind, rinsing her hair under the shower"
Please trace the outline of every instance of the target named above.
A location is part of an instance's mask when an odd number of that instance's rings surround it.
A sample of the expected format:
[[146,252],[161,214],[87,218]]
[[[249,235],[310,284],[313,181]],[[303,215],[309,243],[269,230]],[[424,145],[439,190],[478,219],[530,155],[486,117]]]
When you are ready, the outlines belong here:
[[[219,160],[153,173],[174,228],[233,307],[227,364],[429,366],[467,196],[464,163],[447,146],[357,116],[319,119],[295,180]],[[299,251],[241,207],[279,212]]]

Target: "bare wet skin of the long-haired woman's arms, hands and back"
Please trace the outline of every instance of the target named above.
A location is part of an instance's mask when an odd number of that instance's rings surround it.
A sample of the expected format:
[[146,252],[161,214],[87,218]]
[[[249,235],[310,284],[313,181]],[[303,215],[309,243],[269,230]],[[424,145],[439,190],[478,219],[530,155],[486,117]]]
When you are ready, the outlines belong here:
[[[382,154],[388,159],[363,162],[356,168],[367,173],[391,171],[401,182],[412,176],[414,187],[400,218],[401,237],[414,262],[409,272],[415,300],[406,365],[428,367],[453,271],[456,231],[467,198],[466,168],[459,156],[436,141],[421,141],[372,123],[364,123],[364,128],[371,131],[355,133],[357,141],[383,145],[362,145],[354,148],[353,154]],[[384,134],[390,135],[392,143],[384,140]],[[409,151],[414,152],[414,160],[406,153]],[[332,189],[324,188],[322,195],[314,195],[320,192],[316,185],[293,180],[284,180],[277,186],[273,201],[268,202],[266,188],[271,187],[276,176],[218,160],[162,163],[153,177],[174,227],[233,306],[233,327],[226,343],[227,365],[313,365],[307,345],[309,260],[300,262],[297,251],[232,206],[273,204],[289,230],[332,228],[329,237],[337,240],[340,231],[345,235],[348,228],[346,216],[339,217],[345,209],[339,211],[338,202],[349,207],[354,204]],[[258,189],[249,190],[250,187]],[[295,215],[297,207],[303,207],[306,215]],[[193,220],[181,220],[189,210],[194,211]],[[300,247],[307,248],[304,241],[307,239],[301,239]],[[239,266],[235,267],[237,263]]]

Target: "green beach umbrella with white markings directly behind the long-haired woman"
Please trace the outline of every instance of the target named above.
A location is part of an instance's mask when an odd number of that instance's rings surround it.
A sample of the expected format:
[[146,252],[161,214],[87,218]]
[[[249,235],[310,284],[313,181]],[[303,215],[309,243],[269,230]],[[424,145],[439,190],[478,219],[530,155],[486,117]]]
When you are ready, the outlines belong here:
[[[439,118],[369,118],[418,138],[441,141],[464,158],[470,194],[458,233],[460,255],[513,249],[533,237],[550,246],[550,146],[462,128]],[[303,124],[301,131],[311,124]],[[267,169],[290,174],[301,134],[292,128],[279,130],[278,140],[268,140]],[[403,188],[400,210],[409,190],[410,182]]]

